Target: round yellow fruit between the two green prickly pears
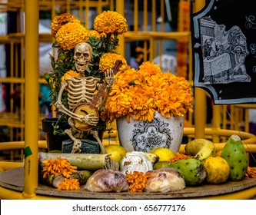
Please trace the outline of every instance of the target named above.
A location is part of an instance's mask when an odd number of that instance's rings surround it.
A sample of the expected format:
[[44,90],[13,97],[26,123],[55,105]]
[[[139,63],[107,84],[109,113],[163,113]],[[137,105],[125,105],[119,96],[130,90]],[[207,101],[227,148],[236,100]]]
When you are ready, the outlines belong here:
[[210,184],[221,184],[228,180],[230,167],[222,157],[208,157],[204,160],[206,180]]

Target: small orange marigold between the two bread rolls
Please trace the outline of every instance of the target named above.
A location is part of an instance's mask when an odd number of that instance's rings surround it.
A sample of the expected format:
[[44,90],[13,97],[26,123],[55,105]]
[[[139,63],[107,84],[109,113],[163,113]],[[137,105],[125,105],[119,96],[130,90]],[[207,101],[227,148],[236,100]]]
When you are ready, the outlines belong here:
[[145,176],[145,173],[134,171],[133,173],[126,174],[126,180],[131,192],[142,192],[145,189],[147,177]]

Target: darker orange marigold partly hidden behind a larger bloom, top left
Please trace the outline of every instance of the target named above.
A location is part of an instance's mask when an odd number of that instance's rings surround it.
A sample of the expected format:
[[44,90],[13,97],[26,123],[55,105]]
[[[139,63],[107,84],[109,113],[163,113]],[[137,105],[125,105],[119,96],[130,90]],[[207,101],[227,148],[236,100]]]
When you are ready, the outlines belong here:
[[55,38],[55,35],[57,34],[59,28],[62,27],[62,25],[65,25],[68,22],[73,22],[75,20],[76,20],[75,16],[69,13],[55,16],[51,24],[52,36]]

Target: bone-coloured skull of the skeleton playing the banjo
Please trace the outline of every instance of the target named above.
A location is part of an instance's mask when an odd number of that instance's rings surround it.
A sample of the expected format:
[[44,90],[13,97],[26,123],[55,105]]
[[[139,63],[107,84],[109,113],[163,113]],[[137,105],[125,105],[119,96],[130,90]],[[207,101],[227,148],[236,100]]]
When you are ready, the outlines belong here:
[[78,72],[83,72],[86,68],[88,68],[88,64],[91,61],[91,56],[92,48],[88,43],[80,42],[75,46],[74,60],[75,68]]

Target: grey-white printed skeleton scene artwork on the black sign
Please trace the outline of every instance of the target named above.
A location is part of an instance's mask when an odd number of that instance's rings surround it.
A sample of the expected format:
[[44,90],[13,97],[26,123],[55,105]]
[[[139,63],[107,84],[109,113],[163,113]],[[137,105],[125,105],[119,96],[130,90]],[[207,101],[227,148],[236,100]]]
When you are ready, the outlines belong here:
[[204,84],[250,82],[244,61],[249,54],[246,37],[234,25],[225,31],[211,17],[200,18],[200,33],[204,61]]

